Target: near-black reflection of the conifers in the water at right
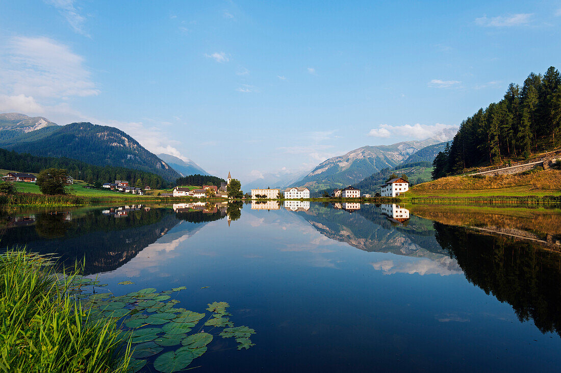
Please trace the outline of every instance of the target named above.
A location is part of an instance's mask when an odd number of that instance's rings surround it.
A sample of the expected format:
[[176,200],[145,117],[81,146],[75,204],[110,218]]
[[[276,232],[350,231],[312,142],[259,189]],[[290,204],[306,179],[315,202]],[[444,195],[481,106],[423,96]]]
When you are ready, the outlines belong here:
[[458,261],[466,278],[499,301],[518,319],[534,320],[542,333],[561,335],[561,257],[534,242],[480,234],[435,223],[436,240]]

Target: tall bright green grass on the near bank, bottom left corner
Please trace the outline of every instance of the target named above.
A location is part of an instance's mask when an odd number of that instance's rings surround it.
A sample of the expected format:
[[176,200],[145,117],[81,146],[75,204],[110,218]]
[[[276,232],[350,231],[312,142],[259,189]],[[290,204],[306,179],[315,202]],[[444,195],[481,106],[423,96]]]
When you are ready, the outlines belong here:
[[113,319],[89,318],[75,278],[57,275],[44,256],[0,256],[0,371],[127,371],[130,343]]

